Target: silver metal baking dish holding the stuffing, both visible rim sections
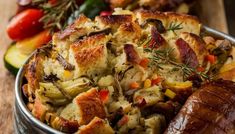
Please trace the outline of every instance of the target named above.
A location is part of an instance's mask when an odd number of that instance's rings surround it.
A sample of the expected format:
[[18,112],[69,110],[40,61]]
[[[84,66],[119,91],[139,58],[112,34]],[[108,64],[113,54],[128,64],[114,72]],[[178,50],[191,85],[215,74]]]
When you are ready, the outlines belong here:
[[[226,35],[224,33],[218,32],[206,26],[202,27],[202,33],[206,35],[211,35],[216,38],[227,39],[235,44],[235,38]],[[15,108],[14,108],[14,121],[15,121],[15,132],[18,134],[60,134],[61,132],[51,128],[45,123],[39,121],[30,113],[27,109],[25,100],[26,98],[23,96],[21,87],[24,82],[24,67],[22,67],[18,75],[16,77],[15,82]]]

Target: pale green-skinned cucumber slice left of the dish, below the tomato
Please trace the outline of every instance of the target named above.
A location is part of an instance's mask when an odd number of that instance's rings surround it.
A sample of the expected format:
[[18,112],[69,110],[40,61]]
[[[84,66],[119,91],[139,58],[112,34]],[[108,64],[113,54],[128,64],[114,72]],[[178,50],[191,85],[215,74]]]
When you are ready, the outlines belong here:
[[28,55],[21,54],[16,45],[13,44],[4,55],[4,65],[12,74],[16,75],[27,59]]

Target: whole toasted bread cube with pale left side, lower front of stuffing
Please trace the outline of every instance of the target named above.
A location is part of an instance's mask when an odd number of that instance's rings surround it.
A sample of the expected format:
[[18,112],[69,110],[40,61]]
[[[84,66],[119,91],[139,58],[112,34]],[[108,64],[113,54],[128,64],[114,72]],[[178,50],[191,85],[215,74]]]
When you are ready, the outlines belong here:
[[94,117],[105,118],[106,112],[97,89],[92,88],[74,98],[73,103],[61,112],[61,116],[68,120],[77,120],[79,125],[86,125]]

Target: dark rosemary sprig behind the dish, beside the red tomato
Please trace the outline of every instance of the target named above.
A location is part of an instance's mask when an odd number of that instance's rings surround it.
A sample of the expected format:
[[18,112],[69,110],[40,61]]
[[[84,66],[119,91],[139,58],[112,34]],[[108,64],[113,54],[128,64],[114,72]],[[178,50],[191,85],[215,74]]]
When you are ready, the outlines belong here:
[[33,0],[32,3],[44,11],[45,15],[40,21],[44,23],[44,28],[51,31],[65,28],[71,13],[79,9],[76,0],[57,0],[54,5],[49,4],[48,0]]

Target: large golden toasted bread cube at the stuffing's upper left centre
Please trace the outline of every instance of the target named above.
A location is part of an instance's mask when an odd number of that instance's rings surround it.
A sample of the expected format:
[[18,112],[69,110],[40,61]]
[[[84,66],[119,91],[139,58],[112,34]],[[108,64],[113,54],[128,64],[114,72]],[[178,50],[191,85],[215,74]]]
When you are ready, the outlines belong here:
[[104,34],[87,37],[71,45],[69,61],[75,65],[75,77],[94,76],[107,68],[106,43],[110,37]]

